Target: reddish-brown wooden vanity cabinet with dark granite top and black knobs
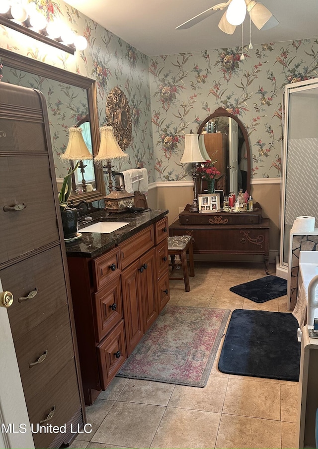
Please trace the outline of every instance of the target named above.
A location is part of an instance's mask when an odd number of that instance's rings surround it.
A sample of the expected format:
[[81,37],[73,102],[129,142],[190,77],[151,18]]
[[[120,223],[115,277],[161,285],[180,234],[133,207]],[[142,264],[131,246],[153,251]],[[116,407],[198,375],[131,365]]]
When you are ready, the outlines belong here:
[[140,214],[140,225],[137,219],[115,233],[83,233],[67,248],[86,405],[169,300],[166,212]]

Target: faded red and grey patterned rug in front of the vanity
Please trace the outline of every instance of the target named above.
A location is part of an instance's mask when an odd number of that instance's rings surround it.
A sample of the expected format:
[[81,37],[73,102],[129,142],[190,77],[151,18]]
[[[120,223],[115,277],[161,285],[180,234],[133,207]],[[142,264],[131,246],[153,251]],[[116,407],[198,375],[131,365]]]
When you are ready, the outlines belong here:
[[204,387],[229,314],[167,305],[117,376]]

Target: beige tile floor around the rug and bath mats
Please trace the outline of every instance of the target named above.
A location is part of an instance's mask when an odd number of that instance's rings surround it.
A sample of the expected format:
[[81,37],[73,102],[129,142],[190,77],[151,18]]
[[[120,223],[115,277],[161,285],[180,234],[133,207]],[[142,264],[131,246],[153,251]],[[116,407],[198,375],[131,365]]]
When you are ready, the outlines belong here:
[[[286,297],[257,304],[229,290],[264,274],[262,264],[196,263],[191,291],[170,282],[169,303],[286,312]],[[115,377],[86,408],[91,434],[71,448],[297,448],[298,382],[220,372],[222,343],[204,388]]]

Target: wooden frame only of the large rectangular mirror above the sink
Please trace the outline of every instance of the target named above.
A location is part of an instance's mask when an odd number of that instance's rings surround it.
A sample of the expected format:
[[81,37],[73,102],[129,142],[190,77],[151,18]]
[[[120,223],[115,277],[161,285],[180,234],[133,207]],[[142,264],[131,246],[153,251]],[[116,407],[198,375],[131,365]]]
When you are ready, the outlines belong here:
[[[97,155],[100,138],[99,138],[99,123],[97,113],[97,91],[96,82],[90,78],[68,72],[67,70],[58,67],[50,66],[41,61],[27,58],[26,56],[13,53],[9,50],[0,49],[0,56],[2,57],[2,64],[4,67],[18,69],[24,72],[32,73],[34,75],[49,78],[61,83],[66,83],[71,86],[76,86],[87,91],[87,103],[89,122],[91,127],[91,140],[93,155]],[[75,125],[75,124],[74,124]],[[105,183],[103,179],[103,169],[95,166],[95,182],[96,190],[92,192],[79,193],[72,196],[75,203],[81,200],[96,201],[105,196]]]

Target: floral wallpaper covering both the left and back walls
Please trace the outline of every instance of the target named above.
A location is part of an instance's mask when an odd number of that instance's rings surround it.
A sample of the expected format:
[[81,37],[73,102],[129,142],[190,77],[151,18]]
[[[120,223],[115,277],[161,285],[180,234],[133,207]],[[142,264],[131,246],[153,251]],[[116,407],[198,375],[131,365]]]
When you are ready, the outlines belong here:
[[188,166],[179,162],[184,134],[197,131],[221,106],[247,129],[252,178],[280,177],[284,86],[318,76],[317,39],[244,47],[243,60],[240,47],[148,57],[63,0],[36,3],[47,17],[84,35],[86,50],[70,55],[2,25],[0,47],[95,79],[100,125],[107,123],[109,91],[118,86],[125,92],[133,137],[129,161],[116,163],[115,170],[145,167],[150,182],[190,179]]

